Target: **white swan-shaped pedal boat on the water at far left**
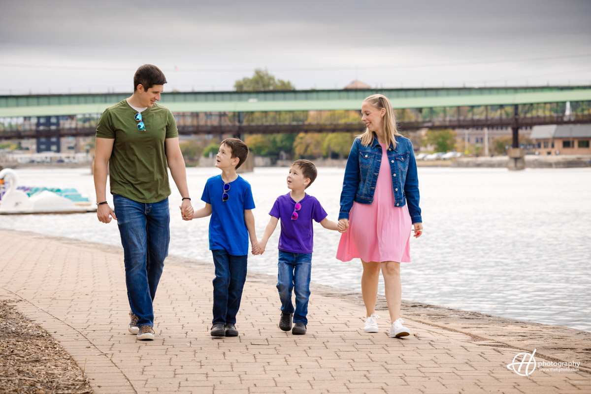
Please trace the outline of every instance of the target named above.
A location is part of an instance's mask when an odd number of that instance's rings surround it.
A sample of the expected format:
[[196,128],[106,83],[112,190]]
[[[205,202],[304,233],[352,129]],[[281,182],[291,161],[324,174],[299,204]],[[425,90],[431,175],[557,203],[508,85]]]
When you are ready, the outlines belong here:
[[41,190],[29,197],[18,190],[17,173],[11,168],[0,171],[0,214],[25,213],[85,213],[96,212],[91,201],[72,201],[49,190]]

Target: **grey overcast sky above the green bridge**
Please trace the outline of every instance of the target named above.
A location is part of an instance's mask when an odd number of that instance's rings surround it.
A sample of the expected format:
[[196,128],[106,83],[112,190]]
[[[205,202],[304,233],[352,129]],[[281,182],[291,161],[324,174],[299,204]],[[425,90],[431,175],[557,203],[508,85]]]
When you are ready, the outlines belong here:
[[0,0],[0,95],[591,84],[591,1]]

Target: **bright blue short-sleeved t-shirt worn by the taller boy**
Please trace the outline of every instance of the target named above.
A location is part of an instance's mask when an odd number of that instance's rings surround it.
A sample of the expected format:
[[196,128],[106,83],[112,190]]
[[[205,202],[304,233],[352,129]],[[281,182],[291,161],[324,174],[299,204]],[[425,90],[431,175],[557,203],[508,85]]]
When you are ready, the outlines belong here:
[[255,208],[251,184],[238,175],[230,182],[228,201],[222,201],[222,175],[207,180],[201,199],[212,205],[209,220],[209,250],[225,249],[232,256],[248,255],[248,230],[244,211]]

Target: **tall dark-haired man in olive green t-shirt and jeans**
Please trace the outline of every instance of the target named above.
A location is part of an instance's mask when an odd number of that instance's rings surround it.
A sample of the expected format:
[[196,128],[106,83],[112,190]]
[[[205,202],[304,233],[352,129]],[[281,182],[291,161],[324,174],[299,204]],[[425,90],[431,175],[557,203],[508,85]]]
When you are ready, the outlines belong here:
[[[174,116],[156,103],[165,83],[158,67],[139,67],[134,93],[107,108],[96,127],[97,216],[102,223],[111,222],[111,217],[118,222],[131,307],[128,331],[140,340],[154,339],[152,302],[168,256],[167,165],[182,197],[181,212],[191,206]],[[114,209],[106,201],[107,168]]]

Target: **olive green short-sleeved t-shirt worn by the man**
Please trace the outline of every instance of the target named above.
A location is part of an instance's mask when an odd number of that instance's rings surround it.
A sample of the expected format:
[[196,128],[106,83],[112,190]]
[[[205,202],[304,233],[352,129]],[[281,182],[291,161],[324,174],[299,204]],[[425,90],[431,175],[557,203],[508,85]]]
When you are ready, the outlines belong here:
[[105,109],[96,136],[115,139],[109,159],[111,193],[157,203],[170,196],[164,139],[177,137],[178,129],[173,113],[157,103],[142,112],[144,131],[138,130],[136,113],[127,100]]

